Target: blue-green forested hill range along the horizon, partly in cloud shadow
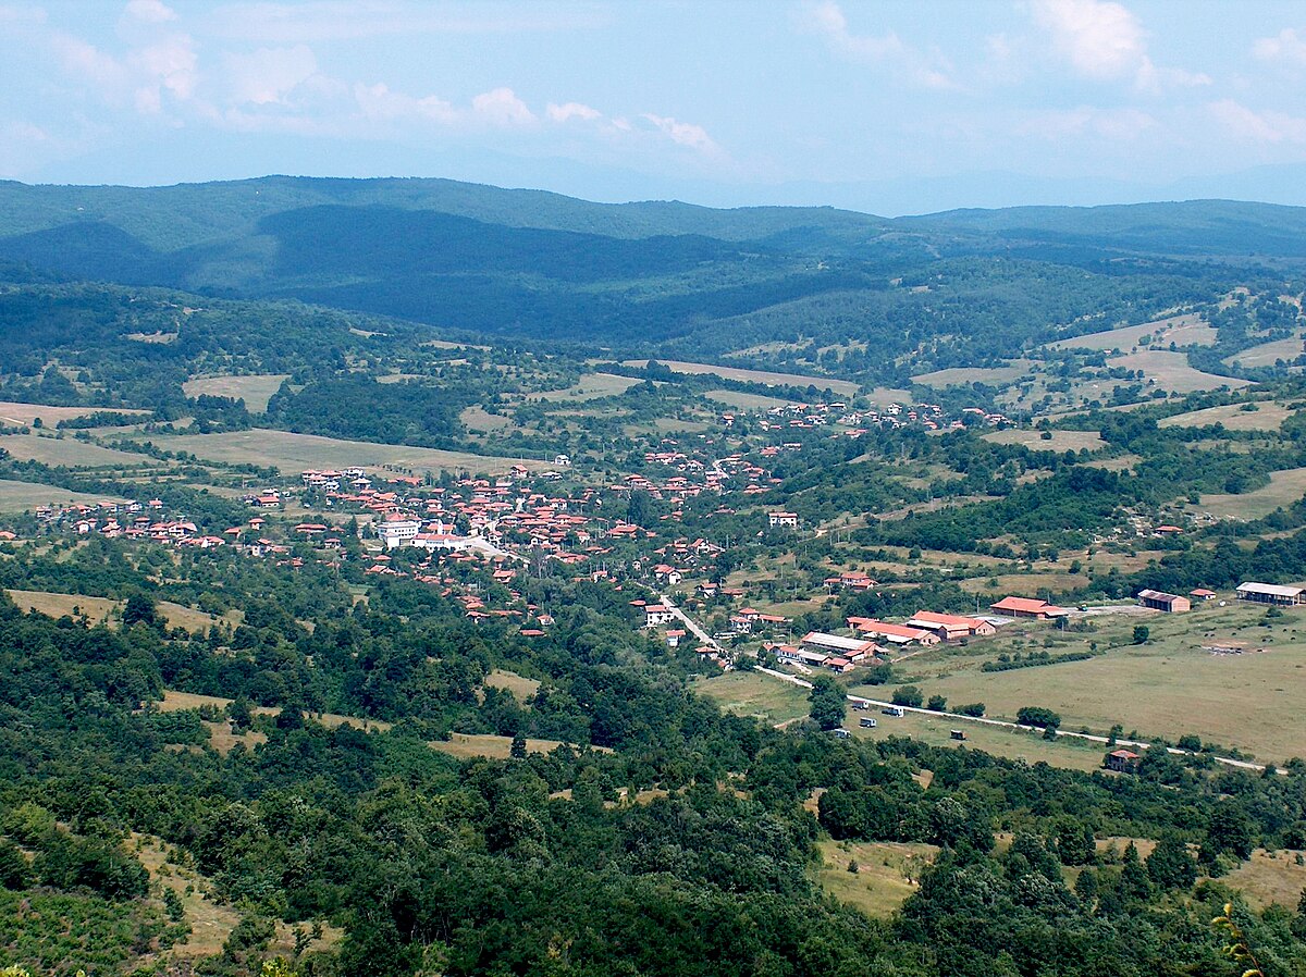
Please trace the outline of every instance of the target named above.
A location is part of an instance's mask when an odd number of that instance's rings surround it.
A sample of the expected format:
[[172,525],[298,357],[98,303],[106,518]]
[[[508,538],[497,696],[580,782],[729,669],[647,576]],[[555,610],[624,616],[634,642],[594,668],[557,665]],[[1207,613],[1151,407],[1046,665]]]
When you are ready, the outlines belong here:
[[908,358],[976,366],[1281,285],[1306,259],[1303,231],[1306,209],[1229,201],[888,219],[452,180],[3,183],[0,280],[299,299],[682,358],[872,341],[878,379],[892,380]]

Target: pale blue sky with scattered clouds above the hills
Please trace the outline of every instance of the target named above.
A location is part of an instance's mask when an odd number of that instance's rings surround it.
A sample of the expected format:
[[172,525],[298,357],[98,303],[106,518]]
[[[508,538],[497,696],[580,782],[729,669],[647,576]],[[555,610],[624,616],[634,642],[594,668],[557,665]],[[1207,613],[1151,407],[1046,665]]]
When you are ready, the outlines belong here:
[[1299,0],[0,0],[0,179],[1306,205]]

